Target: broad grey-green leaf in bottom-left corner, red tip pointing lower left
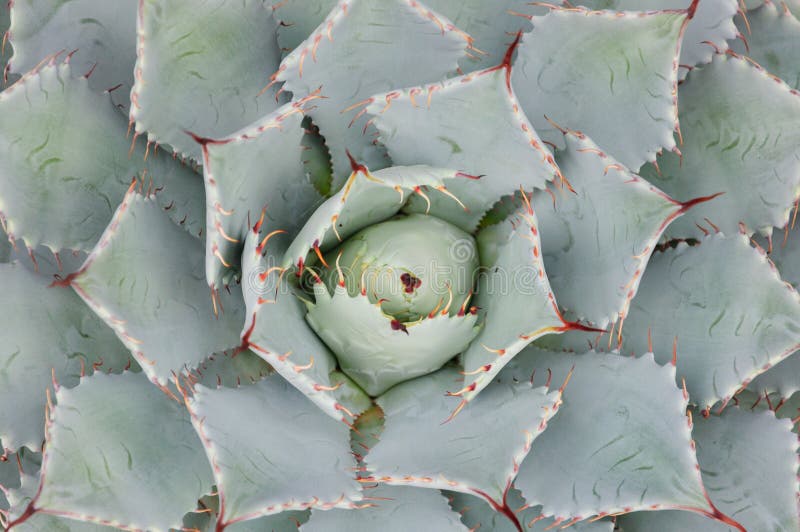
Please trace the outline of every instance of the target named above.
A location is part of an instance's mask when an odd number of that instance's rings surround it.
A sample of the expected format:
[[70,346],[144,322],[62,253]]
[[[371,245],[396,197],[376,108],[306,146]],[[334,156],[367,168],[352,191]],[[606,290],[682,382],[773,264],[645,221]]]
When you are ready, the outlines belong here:
[[144,375],[96,373],[56,399],[39,491],[20,521],[43,512],[131,529],[180,527],[211,489],[188,413]]

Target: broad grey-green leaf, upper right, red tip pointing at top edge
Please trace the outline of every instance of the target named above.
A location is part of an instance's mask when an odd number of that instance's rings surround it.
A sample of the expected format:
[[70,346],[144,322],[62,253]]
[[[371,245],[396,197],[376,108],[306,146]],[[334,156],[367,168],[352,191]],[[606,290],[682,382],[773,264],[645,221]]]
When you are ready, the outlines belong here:
[[678,54],[689,19],[685,10],[622,13],[553,8],[534,17],[511,83],[544,140],[562,142],[549,117],[637,171],[675,147]]

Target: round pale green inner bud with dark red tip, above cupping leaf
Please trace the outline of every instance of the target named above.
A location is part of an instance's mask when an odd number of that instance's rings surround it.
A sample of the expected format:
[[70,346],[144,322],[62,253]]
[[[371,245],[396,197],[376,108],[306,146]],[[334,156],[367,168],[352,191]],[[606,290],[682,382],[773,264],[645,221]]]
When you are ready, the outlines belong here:
[[349,295],[380,303],[397,322],[395,329],[402,330],[399,325],[437,312],[455,314],[468,302],[478,252],[475,240],[461,229],[412,214],[356,233],[328,254],[327,263],[331,292],[343,278]]

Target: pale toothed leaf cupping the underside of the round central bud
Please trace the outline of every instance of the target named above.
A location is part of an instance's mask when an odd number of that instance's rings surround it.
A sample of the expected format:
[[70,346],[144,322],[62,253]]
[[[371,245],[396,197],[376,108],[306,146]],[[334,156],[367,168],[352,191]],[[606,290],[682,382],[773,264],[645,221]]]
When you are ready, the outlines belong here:
[[342,371],[373,397],[439,369],[478,334],[478,317],[471,313],[437,313],[398,330],[394,318],[366,295],[351,296],[338,285],[331,294],[321,282],[314,285],[314,295],[308,324],[338,354]]

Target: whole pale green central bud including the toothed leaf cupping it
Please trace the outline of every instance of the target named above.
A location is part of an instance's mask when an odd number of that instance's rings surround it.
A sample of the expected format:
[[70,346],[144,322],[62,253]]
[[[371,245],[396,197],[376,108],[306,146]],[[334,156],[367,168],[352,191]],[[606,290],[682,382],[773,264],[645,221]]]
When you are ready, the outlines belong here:
[[480,327],[470,299],[475,239],[411,214],[355,233],[321,256],[306,320],[339,366],[372,396],[439,369]]

